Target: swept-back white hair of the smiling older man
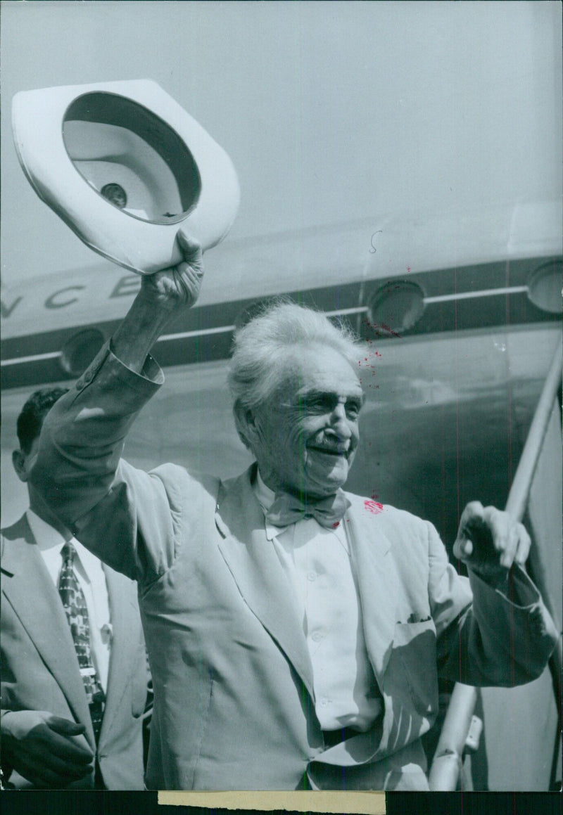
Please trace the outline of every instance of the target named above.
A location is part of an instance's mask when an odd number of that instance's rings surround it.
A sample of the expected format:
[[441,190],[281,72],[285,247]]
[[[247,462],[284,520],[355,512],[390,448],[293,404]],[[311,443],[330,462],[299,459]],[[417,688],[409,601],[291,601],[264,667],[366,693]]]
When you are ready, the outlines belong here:
[[310,345],[328,346],[358,369],[363,346],[346,324],[335,325],[321,311],[278,300],[239,328],[233,339],[228,386],[239,436],[249,446],[237,419],[237,408],[255,410],[282,385],[288,351]]

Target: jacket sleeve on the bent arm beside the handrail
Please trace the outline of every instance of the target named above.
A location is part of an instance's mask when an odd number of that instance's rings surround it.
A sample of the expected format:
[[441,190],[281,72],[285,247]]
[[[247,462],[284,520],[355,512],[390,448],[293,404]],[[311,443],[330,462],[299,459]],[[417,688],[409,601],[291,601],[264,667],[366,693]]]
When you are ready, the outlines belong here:
[[465,685],[512,687],[536,679],[555,647],[557,632],[538,589],[520,566],[507,591],[469,570],[460,577],[428,524],[428,593],[437,629],[438,672]]

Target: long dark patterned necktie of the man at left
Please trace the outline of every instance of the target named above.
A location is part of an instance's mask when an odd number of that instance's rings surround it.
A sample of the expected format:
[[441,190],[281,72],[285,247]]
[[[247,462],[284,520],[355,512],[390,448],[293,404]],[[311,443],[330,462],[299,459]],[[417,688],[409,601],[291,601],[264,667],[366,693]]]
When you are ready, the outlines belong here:
[[92,662],[90,645],[90,620],[86,608],[86,597],[78,583],[74,571],[74,556],[76,549],[68,542],[61,549],[63,566],[59,577],[59,594],[63,602],[64,611],[69,620],[70,631],[73,635],[74,650],[78,657],[78,667],[84,683],[86,698],[90,707],[90,715],[96,742],[100,737],[102,718],[104,716],[105,694]]

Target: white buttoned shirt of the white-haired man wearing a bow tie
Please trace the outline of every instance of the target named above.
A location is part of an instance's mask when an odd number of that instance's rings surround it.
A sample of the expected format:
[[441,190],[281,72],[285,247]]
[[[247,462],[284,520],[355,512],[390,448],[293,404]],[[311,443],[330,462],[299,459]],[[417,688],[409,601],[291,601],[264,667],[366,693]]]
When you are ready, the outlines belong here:
[[[274,493],[258,473],[255,496],[264,515]],[[361,606],[344,523],[326,529],[314,518],[283,528],[264,518],[268,541],[295,593],[313,663],[321,729],[366,731],[382,710],[367,655]]]

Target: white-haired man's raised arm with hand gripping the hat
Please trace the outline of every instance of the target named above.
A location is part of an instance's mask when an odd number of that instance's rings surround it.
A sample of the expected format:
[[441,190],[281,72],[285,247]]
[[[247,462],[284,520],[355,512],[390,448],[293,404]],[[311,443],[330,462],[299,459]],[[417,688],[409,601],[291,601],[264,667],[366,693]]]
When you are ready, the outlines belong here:
[[183,235],[179,243],[184,261],[143,277],[109,344],[47,414],[29,473],[30,487],[78,540],[141,580],[162,574],[175,551],[178,468],[149,475],[121,456],[127,431],[163,381],[149,351],[193,306],[202,283],[199,245]]

